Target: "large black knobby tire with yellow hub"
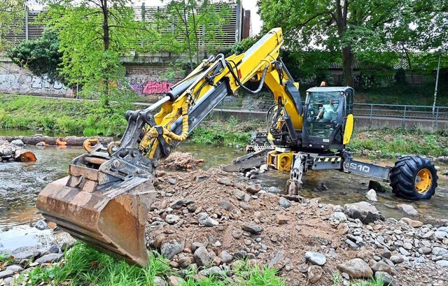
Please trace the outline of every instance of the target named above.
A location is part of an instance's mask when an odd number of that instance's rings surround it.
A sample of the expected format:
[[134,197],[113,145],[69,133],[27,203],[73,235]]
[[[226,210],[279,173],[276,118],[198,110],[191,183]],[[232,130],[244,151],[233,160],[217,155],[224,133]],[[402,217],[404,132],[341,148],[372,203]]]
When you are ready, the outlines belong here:
[[419,156],[406,156],[395,162],[390,178],[392,192],[413,201],[430,199],[438,179],[434,164]]

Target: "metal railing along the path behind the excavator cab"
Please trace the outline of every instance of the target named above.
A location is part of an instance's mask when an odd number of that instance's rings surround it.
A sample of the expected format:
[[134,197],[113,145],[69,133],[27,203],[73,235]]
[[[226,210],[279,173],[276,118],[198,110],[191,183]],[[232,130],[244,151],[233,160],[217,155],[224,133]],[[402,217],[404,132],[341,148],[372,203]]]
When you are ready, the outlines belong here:
[[[274,104],[272,99],[235,99],[226,97],[216,109],[238,110],[243,113],[265,113]],[[406,120],[448,121],[448,106],[409,106],[396,104],[354,103],[353,115],[369,117],[389,117]]]

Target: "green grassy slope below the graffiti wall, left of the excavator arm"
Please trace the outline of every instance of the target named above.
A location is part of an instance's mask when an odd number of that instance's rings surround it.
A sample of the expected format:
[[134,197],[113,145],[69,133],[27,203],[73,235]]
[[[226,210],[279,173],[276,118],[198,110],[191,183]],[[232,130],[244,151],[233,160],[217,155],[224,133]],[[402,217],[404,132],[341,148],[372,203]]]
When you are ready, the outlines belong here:
[[129,103],[102,108],[92,101],[1,96],[0,127],[56,131],[69,135],[113,136],[125,130]]

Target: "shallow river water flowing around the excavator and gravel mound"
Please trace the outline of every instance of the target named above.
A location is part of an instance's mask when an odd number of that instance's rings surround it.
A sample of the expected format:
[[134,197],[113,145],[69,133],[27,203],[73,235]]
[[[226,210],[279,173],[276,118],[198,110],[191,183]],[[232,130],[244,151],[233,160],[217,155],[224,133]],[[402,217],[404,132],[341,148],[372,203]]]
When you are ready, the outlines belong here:
[[[11,131],[0,132],[1,135],[11,134]],[[3,134],[2,134],[3,133]],[[29,135],[23,134],[20,135]],[[58,148],[47,146],[37,148],[26,147],[37,157],[36,162],[10,162],[0,164],[0,250],[11,249],[13,246],[26,246],[41,243],[47,239],[45,231],[37,231],[29,224],[41,219],[36,213],[34,203],[38,192],[52,180],[67,175],[71,160],[83,154],[81,147]],[[230,146],[213,146],[184,143],[176,148],[179,152],[190,152],[195,157],[205,159],[201,168],[209,169],[221,164],[229,164],[232,159],[243,155],[241,150]],[[367,161],[366,159],[364,159]],[[393,162],[381,162],[393,165]],[[448,170],[448,165],[438,164],[441,170]],[[402,217],[402,213],[395,208],[397,203],[408,203],[419,213],[436,218],[446,218],[448,210],[448,178],[439,173],[439,187],[436,194],[428,201],[407,201],[400,199],[391,192],[377,193],[379,201],[373,203],[386,217]],[[276,186],[285,190],[289,174],[279,171],[268,171],[260,174],[255,180],[264,187]],[[309,171],[304,177],[302,196],[313,198],[320,196],[323,203],[344,205],[357,201],[365,201],[365,192],[370,178],[365,176],[340,173],[339,171]],[[326,191],[318,191],[316,187],[321,183],[328,187]],[[384,183],[386,184],[386,183]],[[8,231],[6,231],[8,229]],[[24,234],[26,235],[24,236]],[[21,241],[23,240],[23,241]]]

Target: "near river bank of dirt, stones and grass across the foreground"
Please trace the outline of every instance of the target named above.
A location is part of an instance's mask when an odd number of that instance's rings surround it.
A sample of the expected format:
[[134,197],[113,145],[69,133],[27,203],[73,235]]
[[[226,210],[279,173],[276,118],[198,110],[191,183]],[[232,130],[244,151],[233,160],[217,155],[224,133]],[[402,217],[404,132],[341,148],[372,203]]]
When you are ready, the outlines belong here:
[[214,168],[158,171],[156,188],[158,199],[146,231],[148,249],[155,253],[148,268],[113,262],[82,244],[64,255],[62,250],[71,243],[55,243],[39,253],[19,249],[3,255],[0,283],[1,279],[6,285],[12,280],[20,285],[143,281],[262,285],[263,279],[269,285],[448,283],[447,220],[427,224],[423,216],[409,211],[400,220],[385,218],[366,201],[345,205],[322,203],[318,197],[291,201],[279,194],[278,187]]

